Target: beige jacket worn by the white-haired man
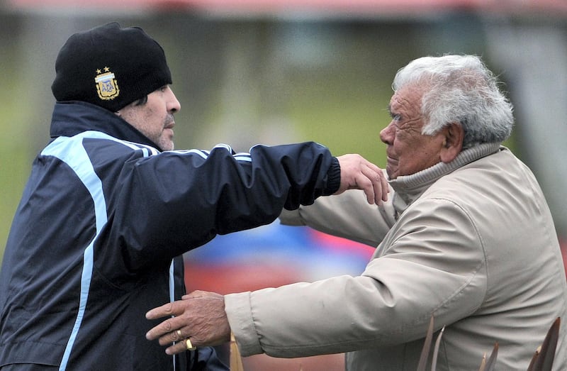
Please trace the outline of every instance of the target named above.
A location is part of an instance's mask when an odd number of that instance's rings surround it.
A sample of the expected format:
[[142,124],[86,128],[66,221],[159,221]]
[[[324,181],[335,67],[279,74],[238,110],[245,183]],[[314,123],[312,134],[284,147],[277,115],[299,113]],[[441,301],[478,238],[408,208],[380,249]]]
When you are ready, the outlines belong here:
[[347,352],[347,370],[415,371],[433,314],[438,371],[478,370],[495,342],[497,370],[527,370],[561,316],[554,370],[567,370],[566,275],[532,172],[481,145],[391,186],[381,207],[349,191],[281,216],[378,248],[359,277],[227,295],[242,355]]

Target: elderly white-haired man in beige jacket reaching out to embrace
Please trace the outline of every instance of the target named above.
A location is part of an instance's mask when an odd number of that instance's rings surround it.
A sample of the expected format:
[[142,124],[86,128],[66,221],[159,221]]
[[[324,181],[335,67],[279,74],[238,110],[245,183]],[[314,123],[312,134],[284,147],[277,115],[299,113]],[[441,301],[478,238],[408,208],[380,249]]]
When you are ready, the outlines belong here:
[[[194,345],[235,336],[242,355],[347,353],[347,370],[417,369],[431,316],[444,333],[437,370],[478,370],[498,342],[497,370],[527,370],[551,323],[567,318],[554,221],[532,171],[503,147],[512,105],[482,60],[422,57],[395,75],[388,106],[388,201],[360,191],[318,199],[283,223],[375,245],[343,275],[220,296],[193,292],[147,314],[172,316],[150,339]],[[567,370],[560,328],[554,370]]]

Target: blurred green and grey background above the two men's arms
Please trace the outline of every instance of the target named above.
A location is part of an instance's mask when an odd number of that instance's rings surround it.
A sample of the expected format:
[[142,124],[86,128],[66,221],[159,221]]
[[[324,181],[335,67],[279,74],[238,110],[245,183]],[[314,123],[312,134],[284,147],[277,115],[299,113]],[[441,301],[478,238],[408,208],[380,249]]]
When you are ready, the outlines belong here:
[[182,106],[178,149],[315,140],[383,166],[378,133],[396,70],[422,55],[482,55],[516,107],[506,144],[538,175],[563,236],[567,9],[554,2],[235,11],[191,1],[0,1],[0,256],[31,162],[49,139],[57,51],[72,33],[108,21],[142,26],[163,45]]

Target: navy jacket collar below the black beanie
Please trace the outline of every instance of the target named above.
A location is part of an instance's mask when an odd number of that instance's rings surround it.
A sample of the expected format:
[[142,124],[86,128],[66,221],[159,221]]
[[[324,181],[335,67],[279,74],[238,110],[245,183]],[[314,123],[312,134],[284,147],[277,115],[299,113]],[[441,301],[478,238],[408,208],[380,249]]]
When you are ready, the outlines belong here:
[[157,144],[116,113],[84,101],[57,102],[51,118],[51,138],[71,137],[84,131],[100,131],[114,138],[151,145],[159,149]]

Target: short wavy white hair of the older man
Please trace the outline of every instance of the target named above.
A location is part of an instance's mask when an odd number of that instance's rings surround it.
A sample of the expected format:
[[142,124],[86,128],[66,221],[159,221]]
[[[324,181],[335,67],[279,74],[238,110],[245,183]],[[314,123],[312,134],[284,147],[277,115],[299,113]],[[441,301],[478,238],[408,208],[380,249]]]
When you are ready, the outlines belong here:
[[476,55],[444,55],[413,60],[395,74],[394,91],[415,84],[423,89],[422,134],[434,135],[460,123],[463,147],[501,143],[512,133],[512,104],[498,89],[494,74]]

